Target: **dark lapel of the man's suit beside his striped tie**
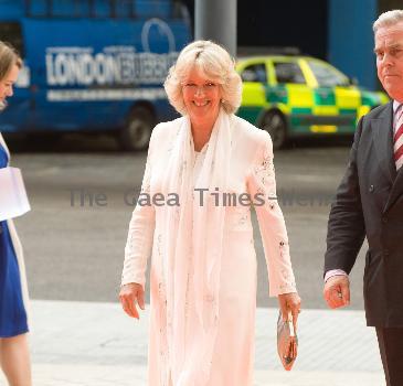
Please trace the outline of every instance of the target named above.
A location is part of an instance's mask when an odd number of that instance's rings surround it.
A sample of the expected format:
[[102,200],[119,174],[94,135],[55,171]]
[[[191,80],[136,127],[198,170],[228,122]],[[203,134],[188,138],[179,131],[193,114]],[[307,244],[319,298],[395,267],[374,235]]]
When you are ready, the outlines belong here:
[[371,120],[371,128],[380,168],[393,183],[396,178],[396,167],[393,160],[392,103],[386,105],[378,119]]

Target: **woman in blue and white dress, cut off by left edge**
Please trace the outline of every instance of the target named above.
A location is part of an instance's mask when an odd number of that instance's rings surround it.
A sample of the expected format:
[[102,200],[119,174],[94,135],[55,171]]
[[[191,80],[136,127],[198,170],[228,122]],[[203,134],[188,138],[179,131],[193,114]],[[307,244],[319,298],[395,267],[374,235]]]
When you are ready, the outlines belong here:
[[[12,85],[21,65],[21,58],[14,50],[0,41],[0,110],[7,105],[6,98],[12,96]],[[9,161],[10,153],[0,133],[0,169],[7,168]],[[31,386],[26,300],[22,248],[12,221],[1,221],[0,365],[10,386]]]

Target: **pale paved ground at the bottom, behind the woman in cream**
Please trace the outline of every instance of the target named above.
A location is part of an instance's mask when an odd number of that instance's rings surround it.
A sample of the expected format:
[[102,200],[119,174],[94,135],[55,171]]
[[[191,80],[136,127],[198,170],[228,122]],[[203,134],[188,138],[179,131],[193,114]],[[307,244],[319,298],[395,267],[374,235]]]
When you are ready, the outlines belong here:
[[[34,385],[146,385],[147,309],[141,317],[129,319],[116,303],[33,301]],[[384,385],[374,331],[362,311],[305,310],[290,373],[276,354],[276,317],[275,309],[257,310],[255,386]]]

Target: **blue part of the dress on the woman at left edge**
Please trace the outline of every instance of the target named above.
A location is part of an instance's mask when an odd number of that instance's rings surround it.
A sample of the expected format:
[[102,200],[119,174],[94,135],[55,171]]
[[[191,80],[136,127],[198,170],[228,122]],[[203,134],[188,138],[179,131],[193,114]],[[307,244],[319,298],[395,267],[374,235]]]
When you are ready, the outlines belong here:
[[[0,168],[8,164],[0,144]],[[1,186],[0,186],[1,189]],[[0,222],[0,337],[28,332],[26,312],[22,300],[20,270],[7,222]]]

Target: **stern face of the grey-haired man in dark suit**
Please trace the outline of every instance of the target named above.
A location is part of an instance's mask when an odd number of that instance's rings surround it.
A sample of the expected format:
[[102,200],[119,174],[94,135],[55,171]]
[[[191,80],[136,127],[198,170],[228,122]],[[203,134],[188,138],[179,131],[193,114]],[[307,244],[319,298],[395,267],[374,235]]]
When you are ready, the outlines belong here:
[[375,33],[378,77],[392,99],[403,103],[403,21]]

